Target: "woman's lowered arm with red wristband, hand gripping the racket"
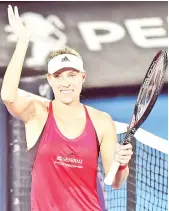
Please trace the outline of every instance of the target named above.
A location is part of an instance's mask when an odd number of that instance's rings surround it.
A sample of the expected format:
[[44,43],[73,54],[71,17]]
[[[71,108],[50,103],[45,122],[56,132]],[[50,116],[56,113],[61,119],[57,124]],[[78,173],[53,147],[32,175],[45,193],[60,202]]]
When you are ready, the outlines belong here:
[[[131,148],[130,145],[120,146],[118,144],[115,124],[108,114],[104,114],[102,125],[104,125],[104,133],[100,146],[100,152],[106,175],[110,169],[111,164],[115,161],[118,161],[123,165],[127,165],[131,158],[132,152],[131,150],[128,150]],[[119,168],[112,184],[113,188],[120,188],[127,179],[128,174],[128,166],[123,170],[120,170]]]

